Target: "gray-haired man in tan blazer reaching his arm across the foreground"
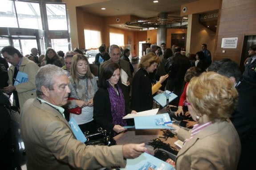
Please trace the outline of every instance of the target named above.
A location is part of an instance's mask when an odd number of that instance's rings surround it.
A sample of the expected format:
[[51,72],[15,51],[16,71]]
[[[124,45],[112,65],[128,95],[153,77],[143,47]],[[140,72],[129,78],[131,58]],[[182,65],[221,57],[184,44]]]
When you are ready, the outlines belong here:
[[27,154],[28,170],[95,170],[126,166],[145,144],[85,146],[78,141],[61,107],[70,93],[66,71],[47,64],[36,75],[37,99],[28,99],[20,113],[20,131]]

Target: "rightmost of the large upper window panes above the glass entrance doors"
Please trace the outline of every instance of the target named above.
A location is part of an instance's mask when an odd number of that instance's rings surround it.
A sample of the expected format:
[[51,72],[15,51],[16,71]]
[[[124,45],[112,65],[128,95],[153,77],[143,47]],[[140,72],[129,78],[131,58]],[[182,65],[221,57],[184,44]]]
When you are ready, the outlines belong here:
[[46,4],[49,30],[68,30],[65,4]]

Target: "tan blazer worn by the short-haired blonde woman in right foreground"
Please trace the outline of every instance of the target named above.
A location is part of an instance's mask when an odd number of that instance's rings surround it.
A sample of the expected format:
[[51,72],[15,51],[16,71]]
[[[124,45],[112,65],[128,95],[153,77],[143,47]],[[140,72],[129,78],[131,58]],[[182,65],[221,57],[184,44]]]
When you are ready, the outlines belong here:
[[[178,138],[186,136],[184,134],[188,132],[185,131],[180,129]],[[176,168],[177,170],[236,170],[240,152],[240,139],[233,124],[230,121],[214,123],[195,134],[179,150],[175,161]]]

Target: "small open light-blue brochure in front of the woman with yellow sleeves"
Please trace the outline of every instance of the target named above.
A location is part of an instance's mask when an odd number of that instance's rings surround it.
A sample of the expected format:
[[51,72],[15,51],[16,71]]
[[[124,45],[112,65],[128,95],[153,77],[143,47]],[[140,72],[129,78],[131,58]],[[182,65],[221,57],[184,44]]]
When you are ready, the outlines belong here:
[[167,97],[169,99],[169,103],[174,100],[176,97],[178,97],[177,95],[175,95],[173,92],[171,91],[164,91],[164,93],[159,93],[158,95],[155,95],[153,97],[153,99],[158,103],[160,104],[162,107],[166,107],[167,105]]

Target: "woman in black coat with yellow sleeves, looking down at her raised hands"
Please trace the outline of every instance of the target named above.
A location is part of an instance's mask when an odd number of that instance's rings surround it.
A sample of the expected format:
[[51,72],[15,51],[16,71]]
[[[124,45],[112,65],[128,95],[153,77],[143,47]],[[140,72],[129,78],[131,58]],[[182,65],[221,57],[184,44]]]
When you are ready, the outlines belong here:
[[162,83],[167,79],[167,75],[159,78],[154,84],[150,79],[150,73],[153,73],[160,63],[159,57],[153,52],[142,56],[139,63],[139,70],[136,72],[132,82],[131,109],[135,111],[146,111],[153,107],[153,95],[163,92],[158,90]]

